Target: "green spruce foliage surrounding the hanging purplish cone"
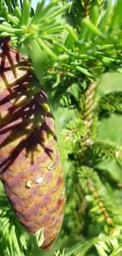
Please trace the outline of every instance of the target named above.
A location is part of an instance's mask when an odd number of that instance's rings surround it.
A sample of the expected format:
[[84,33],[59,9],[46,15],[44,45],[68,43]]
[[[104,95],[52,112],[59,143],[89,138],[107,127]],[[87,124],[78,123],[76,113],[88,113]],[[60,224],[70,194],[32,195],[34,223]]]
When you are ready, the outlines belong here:
[[[99,132],[102,121],[122,113],[116,84],[113,91],[99,91],[105,72],[122,74],[121,13],[121,0],[42,1],[35,10],[29,0],[0,0],[0,35],[10,36],[13,47],[30,58],[57,124],[65,219],[55,252],[45,255],[122,255],[121,143],[109,139],[109,130],[108,139]],[[3,192],[0,250],[3,256],[43,255]]]

